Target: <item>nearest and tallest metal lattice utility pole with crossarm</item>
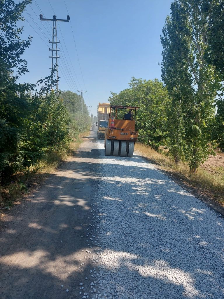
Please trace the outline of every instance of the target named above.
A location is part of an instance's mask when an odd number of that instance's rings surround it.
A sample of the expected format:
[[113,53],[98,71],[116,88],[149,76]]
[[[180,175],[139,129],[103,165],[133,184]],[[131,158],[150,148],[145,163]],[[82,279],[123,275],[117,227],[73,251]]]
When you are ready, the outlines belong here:
[[[51,58],[51,69],[52,70],[53,70],[53,60],[56,59],[56,77],[57,77],[57,90],[58,90],[58,79],[59,79],[59,77],[58,77],[58,58],[60,58],[60,56],[58,56],[58,51],[60,51],[60,49],[58,49],[57,44],[59,44],[60,41],[57,41],[57,22],[69,22],[70,16],[67,16],[66,20],[57,19],[56,15],[53,15],[53,19],[43,19],[43,15],[41,13],[40,20],[41,21],[53,21],[52,42],[49,39],[49,42],[52,44],[52,49],[49,48],[49,51],[51,51],[51,56],[49,56],[49,58]],[[56,52],[56,56],[54,56],[54,52]],[[53,78],[52,78],[51,88],[53,88]]]

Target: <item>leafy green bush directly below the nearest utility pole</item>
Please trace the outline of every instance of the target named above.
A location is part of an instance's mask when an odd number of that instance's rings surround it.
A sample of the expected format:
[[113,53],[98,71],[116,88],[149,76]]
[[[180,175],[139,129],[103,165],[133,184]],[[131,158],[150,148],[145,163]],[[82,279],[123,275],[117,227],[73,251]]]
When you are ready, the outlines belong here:
[[45,97],[34,97],[30,115],[24,119],[24,164],[30,166],[50,151],[68,150],[68,132],[68,112],[59,94],[51,91]]

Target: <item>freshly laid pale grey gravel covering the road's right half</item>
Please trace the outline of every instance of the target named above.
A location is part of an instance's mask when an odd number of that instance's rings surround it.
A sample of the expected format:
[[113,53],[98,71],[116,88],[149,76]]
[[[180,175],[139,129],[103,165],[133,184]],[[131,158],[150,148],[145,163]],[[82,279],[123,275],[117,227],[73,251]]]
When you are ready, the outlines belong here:
[[106,157],[98,144],[89,298],[223,299],[223,218],[144,158]]

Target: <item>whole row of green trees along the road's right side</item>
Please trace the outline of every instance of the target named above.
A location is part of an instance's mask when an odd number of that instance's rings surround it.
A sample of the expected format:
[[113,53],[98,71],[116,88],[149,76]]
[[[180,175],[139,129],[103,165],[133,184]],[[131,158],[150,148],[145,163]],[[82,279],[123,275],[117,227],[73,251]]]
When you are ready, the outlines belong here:
[[109,98],[139,106],[139,141],[168,148],[195,173],[224,150],[224,1],[175,0],[162,30],[162,82],[132,78]]

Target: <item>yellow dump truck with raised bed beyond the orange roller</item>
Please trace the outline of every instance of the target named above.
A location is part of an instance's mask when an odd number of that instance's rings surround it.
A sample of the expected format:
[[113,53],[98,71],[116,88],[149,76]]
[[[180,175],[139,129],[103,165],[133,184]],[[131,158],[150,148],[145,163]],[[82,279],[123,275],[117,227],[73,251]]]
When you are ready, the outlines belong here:
[[96,122],[97,139],[104,138],[105,136],[105,129],[108,127],[109,107],[110,103],[99,103],[98,105],[98,121]]

